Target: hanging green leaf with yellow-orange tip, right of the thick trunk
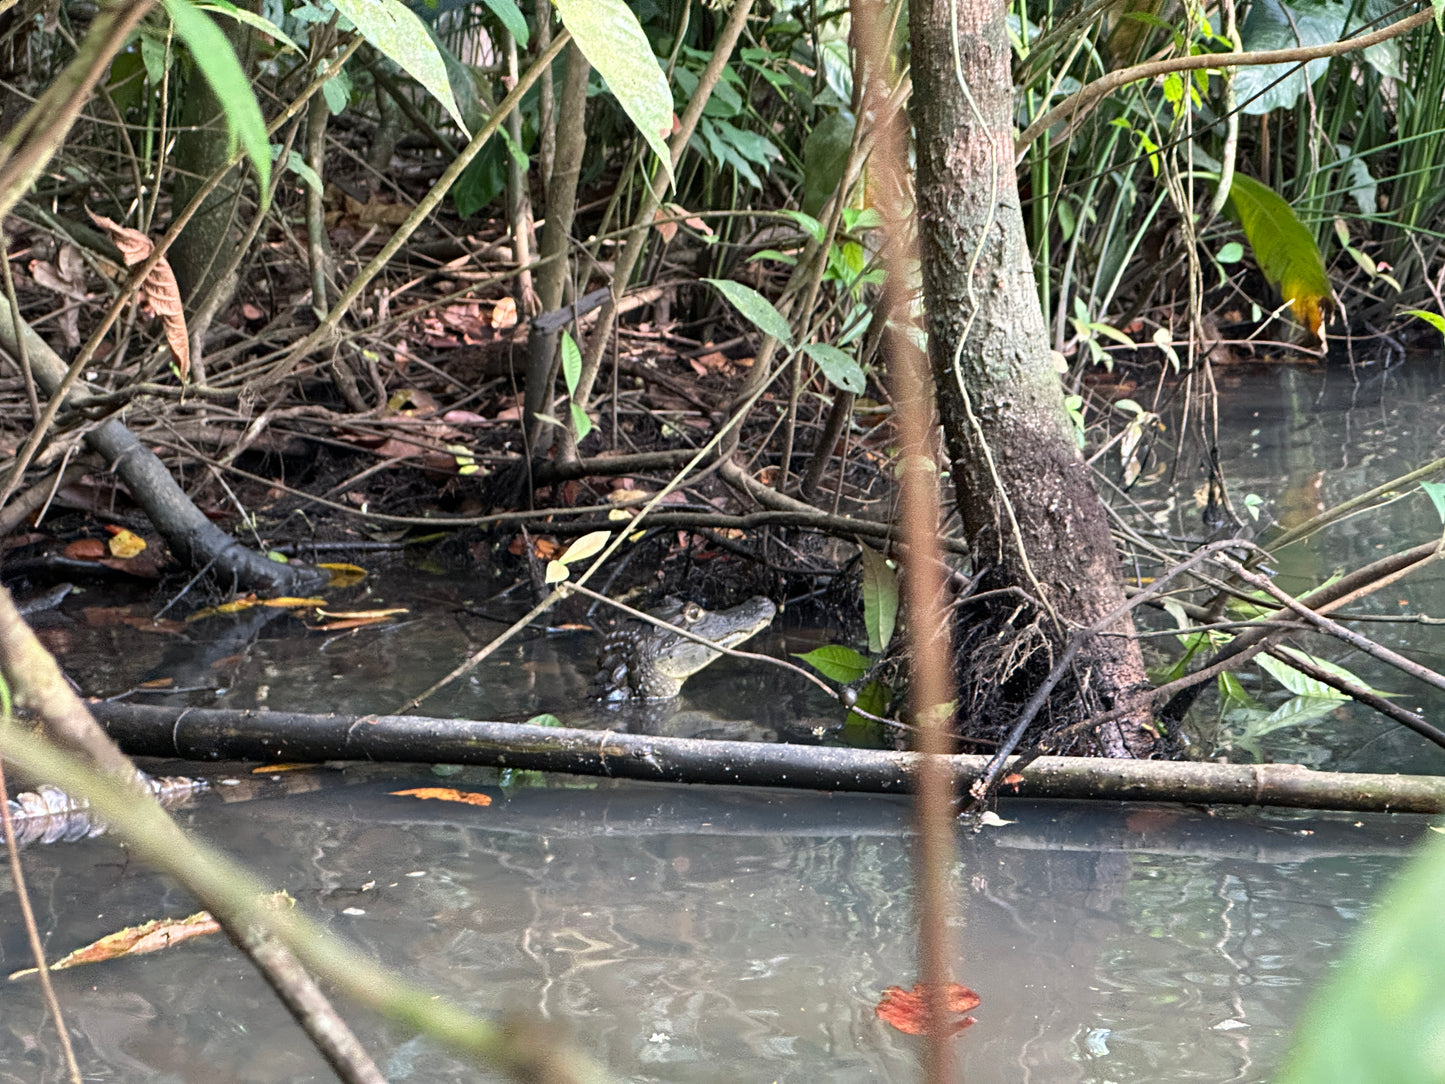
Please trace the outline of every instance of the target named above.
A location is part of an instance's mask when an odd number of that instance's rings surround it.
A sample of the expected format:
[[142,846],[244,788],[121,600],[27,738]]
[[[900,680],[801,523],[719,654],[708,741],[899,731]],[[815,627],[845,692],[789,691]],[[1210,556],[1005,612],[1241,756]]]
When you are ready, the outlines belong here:
[[1230,205],[1264,278],[1289,302],[1295,318],[1319,335],[1331,291],[1314,236],[1274,191],[1244,173],[1234,175]]

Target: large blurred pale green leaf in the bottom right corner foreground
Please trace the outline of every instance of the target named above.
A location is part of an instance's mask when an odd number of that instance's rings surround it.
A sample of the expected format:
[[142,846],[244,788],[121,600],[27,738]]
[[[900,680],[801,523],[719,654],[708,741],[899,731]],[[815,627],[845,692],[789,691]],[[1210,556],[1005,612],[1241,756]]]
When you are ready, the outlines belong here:
[[1445,840],[1432,838],[1368,915],[1295,1035],[1276,1084],[1441,1078]]

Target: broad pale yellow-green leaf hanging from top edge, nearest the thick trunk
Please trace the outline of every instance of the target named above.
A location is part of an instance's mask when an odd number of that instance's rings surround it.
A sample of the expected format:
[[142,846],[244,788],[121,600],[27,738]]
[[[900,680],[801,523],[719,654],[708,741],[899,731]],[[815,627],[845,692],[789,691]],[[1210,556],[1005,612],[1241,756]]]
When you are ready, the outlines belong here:
[[672,132],[672,93],[637,16],[623,0],[553,0],[553,4],[577,48],[607,81],[673,185],[672,152],[663,139]]

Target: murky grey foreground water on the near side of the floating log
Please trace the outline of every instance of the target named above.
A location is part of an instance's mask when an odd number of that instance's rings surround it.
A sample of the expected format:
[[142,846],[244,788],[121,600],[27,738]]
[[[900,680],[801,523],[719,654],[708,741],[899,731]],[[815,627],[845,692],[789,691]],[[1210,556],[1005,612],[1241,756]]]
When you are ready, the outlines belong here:
[[[416,769],[318,770],[311,792],[184,817],[301,908],[486,1013],[565,1020],[620,1078],[915,1080],[873,1016],[915,978],[907,806],[887,798],[562,782],[486,808],[390,791]],[[1418,818],[1013,804],[962,840],[959,976],[984,1002],[970,1081],[1264,1080],[1303,997]],[[114,843],[26,860],[52,952],[191,909]],[[97,899],[100,903],[97,905]],[[6,929],[4,965],[25,941]],[[220,938],[61,977],[94,1078],[328,1080]],[[6,993],[0,1080],[59,1080],[33,983]],[[390,1080],[474,1075],[360,1022]],[[38,1044],[38,1045],[36,1045]]]

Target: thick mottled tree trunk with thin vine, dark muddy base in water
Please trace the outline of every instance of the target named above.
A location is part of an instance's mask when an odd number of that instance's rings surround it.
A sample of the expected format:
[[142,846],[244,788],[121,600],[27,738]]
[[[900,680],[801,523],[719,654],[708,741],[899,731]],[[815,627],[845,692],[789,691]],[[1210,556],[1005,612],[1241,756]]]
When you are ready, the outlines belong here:
[[[958,507],[985,572],[980,585],[1006,590],[964,611],[972,653],[959,704],[965,727],[970,717],[1001,727],[1068,636],[1123,604],[1123,581],[1064,408],[1025,243],[1004,9],[922,0],[910,26],[929,361]],[[1123,708],[1094,740],[1110,756],[1144,756],[1155,747],[1137,695],[1146,685],[1133,621],[1116,620],[1084,643],[1048,724]]]

